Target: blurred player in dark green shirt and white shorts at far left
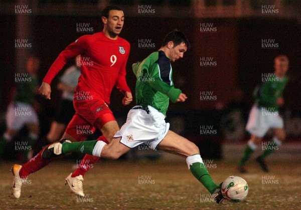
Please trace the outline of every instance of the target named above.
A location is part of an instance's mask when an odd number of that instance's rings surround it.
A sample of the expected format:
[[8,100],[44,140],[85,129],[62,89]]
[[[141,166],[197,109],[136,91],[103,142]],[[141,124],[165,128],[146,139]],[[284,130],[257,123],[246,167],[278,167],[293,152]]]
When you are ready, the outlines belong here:
[[37,78],[39,67],[39,58],[30,56],[26,63],[27,73],[15,74],[16,92],[7,110],[7,130],[0,139],[0,156],[4,153],[6,144],[26,126],[29,134],[27,136],[27,143],[23,144],[25,145],[24,154],[27,160],[32,158],[33,146],[40,132],[39,118],[35,111],[35,108],[37,109],[39,106],[35,100],[35,95],[38,94],[39,88]]

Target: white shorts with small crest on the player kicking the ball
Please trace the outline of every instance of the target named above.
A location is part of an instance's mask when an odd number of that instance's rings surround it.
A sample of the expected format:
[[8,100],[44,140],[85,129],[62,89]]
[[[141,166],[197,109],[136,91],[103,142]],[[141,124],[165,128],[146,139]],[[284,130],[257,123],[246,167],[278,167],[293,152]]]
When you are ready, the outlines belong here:
[[134,106],[127,114],[124,125],[114,135],[121,137],[120,142],[129,148],[146,144],[149,149],[156,150],[158,144],[167,135],[170,124],[165,122],[165,116],[152,106],[148,111]]

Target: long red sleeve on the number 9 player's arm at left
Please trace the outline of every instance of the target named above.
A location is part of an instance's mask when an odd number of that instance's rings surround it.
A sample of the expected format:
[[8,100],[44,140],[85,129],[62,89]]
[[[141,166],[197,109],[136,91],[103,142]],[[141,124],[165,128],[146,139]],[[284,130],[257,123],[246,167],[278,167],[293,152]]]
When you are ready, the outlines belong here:
[[83,54],[88,46],[88,36],[82,36],[63,50],[48,70],[43,82],[51,84],[53,78],[63,69],[66,63],[77,55]]

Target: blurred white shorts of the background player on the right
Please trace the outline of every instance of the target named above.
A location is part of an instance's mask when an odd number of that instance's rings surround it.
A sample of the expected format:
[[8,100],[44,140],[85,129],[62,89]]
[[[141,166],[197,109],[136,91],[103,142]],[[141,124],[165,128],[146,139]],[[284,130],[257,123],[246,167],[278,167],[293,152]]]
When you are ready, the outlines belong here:
[[266,111],[264,107],[253,105],[246,130],[255,136],[263,137],[270,128],[283,128],[283,120],[278,111]]

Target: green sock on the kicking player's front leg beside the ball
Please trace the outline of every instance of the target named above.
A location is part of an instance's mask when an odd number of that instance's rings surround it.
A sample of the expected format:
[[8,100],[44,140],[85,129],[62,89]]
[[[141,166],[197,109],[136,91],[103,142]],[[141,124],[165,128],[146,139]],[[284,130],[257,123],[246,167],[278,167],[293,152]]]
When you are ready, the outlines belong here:
[[208,189],[212,194],[220,186],[213,182],[206,166],[203,163],[195,162],[190,166],[192,174]]

